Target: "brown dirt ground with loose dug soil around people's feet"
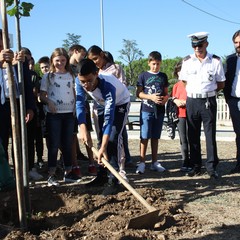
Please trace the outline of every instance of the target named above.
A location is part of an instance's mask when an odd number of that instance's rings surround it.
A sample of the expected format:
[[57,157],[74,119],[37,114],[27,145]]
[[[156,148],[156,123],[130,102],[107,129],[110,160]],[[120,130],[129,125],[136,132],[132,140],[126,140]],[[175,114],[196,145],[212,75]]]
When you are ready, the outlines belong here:
[[[129,140],[134,164],[139,141]],[[84,149],[83,149],[84,151]],[[202,142],[205,159],[205,142]],[[46,181],[30,185],[31,216],[28,230],[20,231],[15,191],[0,193],[1,239],[240,239],[240,174],[229,175],[235,165],[234,142],[218,142],[220,178],[204,174],[187,177],[179,171],[179,140],[160,140],[159,160],[164,173],[152,172],[150,152],[144,175],[127,168],[130,184],[159,210],[153,229],[126,229],[129,220],[148,210],[126,189],[104,197],[104,187],[86,187],[88,162],[81,161],[83,179],[78,184],[47,187]],[[45,156],[46,159],[46,156]],[[41,172],[46,176],[46,170]],[[61,178],[61,174],[59,174]]]

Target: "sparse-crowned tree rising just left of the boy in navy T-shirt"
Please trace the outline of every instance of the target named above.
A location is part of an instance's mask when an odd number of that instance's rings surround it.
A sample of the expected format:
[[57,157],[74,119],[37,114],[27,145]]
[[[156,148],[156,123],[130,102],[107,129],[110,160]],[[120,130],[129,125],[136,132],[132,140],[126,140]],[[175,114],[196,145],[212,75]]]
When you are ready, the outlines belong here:
[[[136,60],[140,60],[143,57],[142,51],[137,47],[135,40],[123,39],[123,49],[120,52],[120,59],[127,63],[127,67],[124,68],[129,85],[135,85],[137,81],[136,68],[141,68],[141,61],[135,64]],[[139,69],[138,69],[139,70]]]

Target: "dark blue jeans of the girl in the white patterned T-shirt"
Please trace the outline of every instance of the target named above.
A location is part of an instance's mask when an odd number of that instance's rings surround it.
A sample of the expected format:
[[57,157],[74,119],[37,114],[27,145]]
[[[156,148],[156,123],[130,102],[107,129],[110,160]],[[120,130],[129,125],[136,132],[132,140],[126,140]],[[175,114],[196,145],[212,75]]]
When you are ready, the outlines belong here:
[[72,168],[72,144],[75,117],[73,113],[47,113],[48,130],[48,168],[49,173],[54,174],[57,166],[58,149],[64,159],[65,170]]

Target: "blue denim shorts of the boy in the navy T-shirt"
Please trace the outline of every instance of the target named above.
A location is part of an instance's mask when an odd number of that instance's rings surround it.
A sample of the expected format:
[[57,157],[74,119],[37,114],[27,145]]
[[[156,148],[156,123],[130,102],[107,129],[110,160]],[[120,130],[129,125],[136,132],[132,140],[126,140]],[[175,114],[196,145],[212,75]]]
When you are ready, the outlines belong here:
[[141,112],[140,114],[140,137],[141,139],[160,139],[162,126],[164,120],[164,113],[158,114],[155,118],[154,112]]

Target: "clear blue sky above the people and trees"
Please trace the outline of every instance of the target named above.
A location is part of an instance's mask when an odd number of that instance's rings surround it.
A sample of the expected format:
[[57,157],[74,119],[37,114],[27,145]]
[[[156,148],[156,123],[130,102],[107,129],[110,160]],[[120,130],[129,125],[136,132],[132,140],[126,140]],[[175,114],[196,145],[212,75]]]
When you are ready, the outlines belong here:
[[[81,35],[80,44],[102,46],[101,0],[26,0],[34,4],[31,17],[20,20],[22,46],[37,61],[61,47],[67,33]],[[144,56],[157,50],[163,58],[192,53],[188,34],[207,31],[210,53],[231,54],[233,33],[240,29],[239,0],[188,0],[190,4],[224,18],[203,13],[182,0],[103,0],[104,46],[115,60],[123,39],[135,40]],[[16,41],[15,20],[8,18],[9,32]],[[16,49],[14,43],[13,50]]]

